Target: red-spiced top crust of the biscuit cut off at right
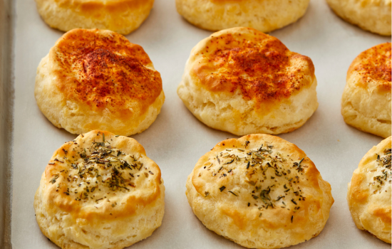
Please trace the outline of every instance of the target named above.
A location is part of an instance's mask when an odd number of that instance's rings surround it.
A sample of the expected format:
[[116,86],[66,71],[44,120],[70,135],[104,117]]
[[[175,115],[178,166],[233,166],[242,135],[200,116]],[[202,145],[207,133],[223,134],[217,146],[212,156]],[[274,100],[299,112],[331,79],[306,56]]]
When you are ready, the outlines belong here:
[[347,78],[359,74],[362,88],[375,86],[391,92],[391,43],[381,43],[360,53],[351,63]]

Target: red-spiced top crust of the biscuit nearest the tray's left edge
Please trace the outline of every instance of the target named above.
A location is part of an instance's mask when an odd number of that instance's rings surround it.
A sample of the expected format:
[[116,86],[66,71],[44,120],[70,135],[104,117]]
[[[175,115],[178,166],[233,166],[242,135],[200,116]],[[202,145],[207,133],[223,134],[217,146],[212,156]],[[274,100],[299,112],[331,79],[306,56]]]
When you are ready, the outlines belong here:
[[143,113],[162,91],[143,48],[112,31],[73,29],[51,48],[49,60],[66,100],[96,112]]

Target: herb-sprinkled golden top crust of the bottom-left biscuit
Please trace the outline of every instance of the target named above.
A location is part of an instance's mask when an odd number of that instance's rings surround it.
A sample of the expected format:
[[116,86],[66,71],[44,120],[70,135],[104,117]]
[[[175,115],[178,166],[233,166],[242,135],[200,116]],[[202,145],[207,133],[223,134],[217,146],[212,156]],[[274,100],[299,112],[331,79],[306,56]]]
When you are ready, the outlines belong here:
[[160,197],[160,169],[135,139],[94,130],[66,142],[45,169],[50,210],[86,221],[132,216]]

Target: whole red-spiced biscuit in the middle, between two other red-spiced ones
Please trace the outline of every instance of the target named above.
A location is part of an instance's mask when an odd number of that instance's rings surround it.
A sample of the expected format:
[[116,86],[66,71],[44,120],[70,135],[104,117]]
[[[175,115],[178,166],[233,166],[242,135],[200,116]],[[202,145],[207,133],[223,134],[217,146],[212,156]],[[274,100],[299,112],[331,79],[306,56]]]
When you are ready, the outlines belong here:
[[192,49],[177,94],[214,129],[280,134],[313,115],[316,85],[310,58],[253,28],[229,28]]

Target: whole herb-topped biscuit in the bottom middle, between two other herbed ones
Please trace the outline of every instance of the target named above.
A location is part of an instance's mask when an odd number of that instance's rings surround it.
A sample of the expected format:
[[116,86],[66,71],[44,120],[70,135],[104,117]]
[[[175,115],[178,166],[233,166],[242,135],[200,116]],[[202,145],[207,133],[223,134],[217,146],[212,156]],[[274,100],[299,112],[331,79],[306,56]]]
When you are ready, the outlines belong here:
[[247,248],[284,248],[319,235],[331,186],[294,144],[266,134],[218,143],[187,179],[202,223]]

